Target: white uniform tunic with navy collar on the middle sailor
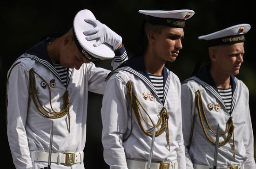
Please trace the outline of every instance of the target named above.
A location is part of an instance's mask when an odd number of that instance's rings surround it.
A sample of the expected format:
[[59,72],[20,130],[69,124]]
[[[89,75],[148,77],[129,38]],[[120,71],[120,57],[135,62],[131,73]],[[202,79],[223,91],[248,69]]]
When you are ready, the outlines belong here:
[[[101,117],[103,123],[102,144],[104,147],[104,159],[110,169],[128,169],[127,161],[129,160],[148,162],[152,144],[152,137],[141,130],[134,110],[131,117],[129,89],[126,85],[128,81],[130,81],[132,92],[135,94],[137,101],[141,104],[138,104],[141,116],[144,117],[149,125],[155,125],[161,118],[160,112],[163,107],[166,108],[168,113],[168,129],[155,137],[152,163],[177,160],[179,169],[186,168],[181,130],[180,81],[173,72],[165,67],[163,69],[163,77],[163,103],[160,101],[149,79],[143,57],[140,55],[128,60],[109,77],[103,96]],[[148,116],[142,107],[148,113]],[[152,129],[152,127],[146,125],[143,118],[139,121],[141,121],[145,131]],[[160,127],[157,127],[156,131],[160,130]],[[124,141],[125,139],[127,140]],[[168,139],[170,147],[168,146]],[[174,165],[177,165],[177,163]],[[166,169],[176,169],[175,166],[172,167]]]

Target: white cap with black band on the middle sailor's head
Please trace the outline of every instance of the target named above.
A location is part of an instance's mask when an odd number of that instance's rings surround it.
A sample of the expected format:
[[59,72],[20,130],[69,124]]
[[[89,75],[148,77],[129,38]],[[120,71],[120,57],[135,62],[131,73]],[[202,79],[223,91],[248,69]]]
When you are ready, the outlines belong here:
[[191,18],[195,12],[189,9],[159,11],[159,10],[139,10],[139,13],[146,15],[146,22],[153,25],[167,25],[184,28],[185,21]]

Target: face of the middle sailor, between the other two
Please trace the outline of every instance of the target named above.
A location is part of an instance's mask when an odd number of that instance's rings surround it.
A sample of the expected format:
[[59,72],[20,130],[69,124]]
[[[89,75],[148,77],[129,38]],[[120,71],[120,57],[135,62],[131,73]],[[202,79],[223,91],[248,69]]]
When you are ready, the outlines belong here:
[[156,34],[155,53],[163,60],[174,62],[182,49],[183,28],[164,26],[160,34]]

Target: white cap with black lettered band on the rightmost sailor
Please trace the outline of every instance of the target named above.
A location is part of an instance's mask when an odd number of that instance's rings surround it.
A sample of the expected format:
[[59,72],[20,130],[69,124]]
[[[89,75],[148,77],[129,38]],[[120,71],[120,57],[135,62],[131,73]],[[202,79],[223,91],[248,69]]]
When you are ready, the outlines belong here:
[[244,34],[250,30],[249,24],[239,24],[228,27],[221,31],[216,31],[208,35],[198,37],[198,39],[207,40],[207,46],[216,46],[222,44],[236,44],[244,42]]

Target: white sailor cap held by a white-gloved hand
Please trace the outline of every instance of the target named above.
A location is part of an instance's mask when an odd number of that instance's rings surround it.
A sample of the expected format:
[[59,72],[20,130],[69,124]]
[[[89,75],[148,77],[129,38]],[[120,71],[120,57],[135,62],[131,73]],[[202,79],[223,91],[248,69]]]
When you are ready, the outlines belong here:
[[115,53],[111,46],[104,43],[94,47],[93,44],[96,40],[86,40],[87,36],[83,32],[93,29],[95,26],[86,22],[84,19],[96,20],[94,14],[88,9],[79,11],[74,17],[74,41],[81,54],[90,61],[113,58]]

